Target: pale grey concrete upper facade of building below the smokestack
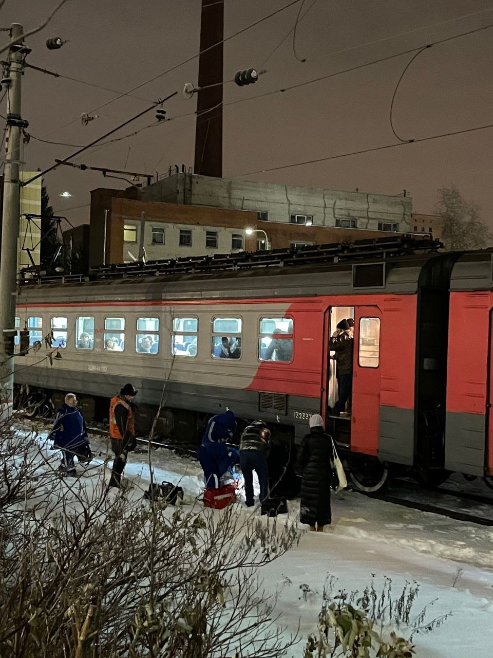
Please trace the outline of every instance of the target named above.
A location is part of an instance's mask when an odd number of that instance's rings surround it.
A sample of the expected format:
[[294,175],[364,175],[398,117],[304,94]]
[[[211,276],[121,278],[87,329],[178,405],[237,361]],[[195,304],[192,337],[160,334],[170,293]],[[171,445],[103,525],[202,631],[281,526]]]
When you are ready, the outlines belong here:
[[141,191],[143,201],[248,210],[259,222],[411,231],[412,199],[178,173]]

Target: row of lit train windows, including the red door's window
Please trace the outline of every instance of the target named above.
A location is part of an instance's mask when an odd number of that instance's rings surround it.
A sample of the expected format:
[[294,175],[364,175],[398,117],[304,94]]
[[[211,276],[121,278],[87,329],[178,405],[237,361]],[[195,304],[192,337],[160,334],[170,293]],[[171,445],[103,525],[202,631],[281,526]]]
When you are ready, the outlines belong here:
[[[43,341],[43,318],[28,317],[29,344]],[[20,327],[20,318],[16,318]],[[137,318],[135,351],[157,354],[159,351],[159,318]],[[177,357],[196,357],[199,319],[173,318],[171,353]],[[68,344],[68,318],[51,318],[52,346],[64,349]],[[76,318],[76,349],[94,349],[94,317]],[[126,343],[124,317],[106,317],[103,332],[103,349],[122,352]],[[241,358],[241,318],[213,318],[211,356],[214,359]],[[18,344],[18,338],[16,339]],[[360,318],[358,364],[364,368],[378,368],[380,357],[380,319]],[[293,361],[293,320],[291,318],[260,318],[258,332],[258,358],[260,361]]]

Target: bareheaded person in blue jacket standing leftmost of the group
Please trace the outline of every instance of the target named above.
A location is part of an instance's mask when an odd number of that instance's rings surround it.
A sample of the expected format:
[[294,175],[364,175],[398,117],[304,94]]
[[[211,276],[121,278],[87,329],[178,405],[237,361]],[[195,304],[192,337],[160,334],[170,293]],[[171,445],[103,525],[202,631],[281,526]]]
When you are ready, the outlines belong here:
[[93,458],[87,440],[87,428],[82,413],[77,407],[75,393],[65,395],[65,402],[57,412],[53,430],[48,438],[53,440],[54,448],[62,451],[62,463],[59,471],[63,475],[76,477],[75,456],[78,457],[80,463],[88,463]]

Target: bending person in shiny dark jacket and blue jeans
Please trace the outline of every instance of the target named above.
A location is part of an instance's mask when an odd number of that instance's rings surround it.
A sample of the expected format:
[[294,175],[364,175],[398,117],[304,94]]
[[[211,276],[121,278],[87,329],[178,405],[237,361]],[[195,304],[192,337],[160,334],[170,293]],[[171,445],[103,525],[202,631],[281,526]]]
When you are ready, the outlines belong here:
[[240,439],[240,467],[245,478],[245,496],[247,507],[253,506],[253,472],[256,471],[260,484],[260,503],[262,511],[269,500],[269,472],[267,455],[269,453],[270,429],[263,420],[254,420],[243,430]]

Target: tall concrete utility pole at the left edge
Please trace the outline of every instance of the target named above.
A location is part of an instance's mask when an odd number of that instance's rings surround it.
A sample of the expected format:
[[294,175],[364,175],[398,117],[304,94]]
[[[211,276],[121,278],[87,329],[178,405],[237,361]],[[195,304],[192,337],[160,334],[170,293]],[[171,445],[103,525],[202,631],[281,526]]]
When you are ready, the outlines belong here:
[[[11,40],[20,37],[22,25],[11,24]],[[15,322],[17,251],[20,222],[20,84],[24,55],[19,44],[9,49],[11,79],[7,93],[7,156],[3,170],[2,245],[0,257],[0,403],[2,412],[11,413],[14,390],[14,359],[11,359],[12,330]]]

